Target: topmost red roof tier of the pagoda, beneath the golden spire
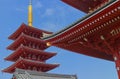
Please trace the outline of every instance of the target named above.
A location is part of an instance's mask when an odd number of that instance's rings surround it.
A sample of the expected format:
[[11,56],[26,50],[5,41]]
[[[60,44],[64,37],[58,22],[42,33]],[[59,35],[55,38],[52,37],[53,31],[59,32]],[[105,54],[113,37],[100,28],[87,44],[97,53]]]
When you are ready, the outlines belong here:
[[12,39],[12,40],[15,40],[17,39],[21,33],[24,33],[24,32],[34,32],[34,33],[37,33],[37,34],[42,34],[42,33],[45,33],[45,34],[52,34],[52,32],[48,32],[48,31],[44,31],[44,30],[41,30],[41,29],[38,29],[38,28],[35,28],[35,27],[30,27],[26,24],[21,24],[20,27],[13,33],[11,34],[8,38],[9,39]]

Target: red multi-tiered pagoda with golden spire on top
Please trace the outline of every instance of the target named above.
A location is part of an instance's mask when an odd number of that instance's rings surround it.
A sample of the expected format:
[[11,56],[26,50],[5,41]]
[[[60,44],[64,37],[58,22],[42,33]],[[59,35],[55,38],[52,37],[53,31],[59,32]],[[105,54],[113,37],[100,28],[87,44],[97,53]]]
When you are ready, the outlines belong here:
[[7,49],[14,52],[6,57],[5,60],[15,63],[4,69],[3,72],[14,73],[16,69],[47,72],[59,66],[59,64],[46,63],[46,60],[55,56],[56,53],[44,51],[49,46],[46,45],[46,42],[42,38],[45,35],[52,34],[52,32],[33,27],[31,0],[28,10],[28,25],[23,23],[8,37],[14,42]]

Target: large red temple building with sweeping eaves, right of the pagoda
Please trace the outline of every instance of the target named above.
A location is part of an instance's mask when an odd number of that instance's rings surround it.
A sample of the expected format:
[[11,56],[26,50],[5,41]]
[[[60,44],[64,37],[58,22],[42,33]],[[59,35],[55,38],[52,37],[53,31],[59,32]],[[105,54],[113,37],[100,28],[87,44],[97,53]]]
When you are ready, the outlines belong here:
[[86,16],[44,38],[47,45],[114,62],[120,79],[120,0],[62,1]]

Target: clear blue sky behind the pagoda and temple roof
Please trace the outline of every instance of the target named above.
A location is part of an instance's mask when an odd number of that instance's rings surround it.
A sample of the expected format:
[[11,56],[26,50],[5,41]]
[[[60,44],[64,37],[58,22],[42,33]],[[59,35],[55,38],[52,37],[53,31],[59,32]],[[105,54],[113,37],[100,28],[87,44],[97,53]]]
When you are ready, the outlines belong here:
[[[3,59],[12,53],[6,47],[13,41],[7,37],[23,22],[27,24],[27,7],[29,0],[0,0],[0,70],[12,62]],[[79,18],[84,13],[74,9],[60,0],[33,0],[34,23],[39,29],[57,32]],[[46,51],[57,52],[57,56],[48,63],[60,63],[60,67],[49,73],[76,74],[78,79],[117,79],[113,62],[73,53],[56,47]],[[0,72],[0,79],[10,79],[12,75]]]

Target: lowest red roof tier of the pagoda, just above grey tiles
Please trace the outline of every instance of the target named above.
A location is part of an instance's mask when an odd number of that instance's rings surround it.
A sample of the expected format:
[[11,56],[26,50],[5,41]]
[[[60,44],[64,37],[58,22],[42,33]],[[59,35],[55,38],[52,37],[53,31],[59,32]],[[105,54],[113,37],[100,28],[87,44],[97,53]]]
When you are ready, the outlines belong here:
[[52,69],[58,67],[59,64],[46,64],[43,62],[38,62],[38,61],[20,58],[13,65],[2,70],[2,72],[14,73],[16,68],[29,70],[30,66],[41,69],[40,72],[47,72],[49,70],[52,70]]

